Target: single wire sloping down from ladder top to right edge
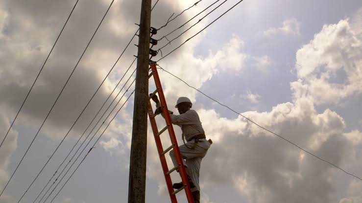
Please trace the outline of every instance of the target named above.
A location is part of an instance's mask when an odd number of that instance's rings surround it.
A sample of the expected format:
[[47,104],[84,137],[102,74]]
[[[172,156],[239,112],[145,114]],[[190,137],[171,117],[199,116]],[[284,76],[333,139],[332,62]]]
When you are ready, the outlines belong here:
[[[158,66],[158,67],[160,67],[160,65],[157,65],[157,66]],[[160,67],[160,68],[161,68],[162,70],[164,70],[165,72],[169,73],[170,75],[172,75],[173,77],[175,77],[175,78],[179,79],[180,81],[182,81],[183,83],[185,83],[185,84],[186,84],[187,86],[189,86],[190,88],[192,88],[192,89],[194,89],[194,90],[196,90],[196,91],[200,92],[200,93],[201,93],[201,94],[203,94],[204,96],[206,96],[206,97],[208,97],[209,99],[211,99],[211,100],[215,101],[217,104],[219,104],[219,105],[221,105],[221,106],[223,106],[223,107],[226,107],[226,108],[227,108],[227,109],[229,109],[230,111],[232,111],[232,112],[234,112],[234,113],[237,113],[238,115],[241,115],[241,116],[242,116],[242,117],[244,117],[246,120],[248,120],[248,121],[250,121],[251,123],[253,123],[253,124],[257,125],[258,127],[260,127],[260,128],[262,128],[262,129],[264,129],[265,131],[267,131],[267,132],[269,132],[269,133],[271,133],[271,134],[273,134],[273,135],[276,135],[276,136],[278,136],[278,137],[280,137],[280,138],[284,139],[285,141],[287,141],[287,142],[289,142],[290,144],[294,145],[294,146],[295,146],[295,147],[297,147],[298,149],[300,149],[300,150],[302,150],[302,151],[304,151],[304,152],[306,152],[306,153],[308,153],[308,154],[312,155],[314,158],[317,158],[317,159],[319,159],[319,160],[322,160],[322,161],[324,161],[324,162],[326,162],[326,163],[328,163],[328,164],[330,164],[330,165],[332,165],[332,166],[334,166],[334,167],[338,168],[338,169],[339,169],[339,170],[341,170],[342,172],[344,172],[344,173],[346,173],[346,174],[348,174],[348,175],[350,175],[350,176],[353,176],[353,177],[355,177],[355,178],[357,178],[357,179],[359,179],[359,180],[362,180],[360,177],[358,177],[358,176],[356,176],[356,175],[353,175],[353,174],[351,174],[351,173],[349,173],[349,172],[345,171],[344,169],[342,169],[342,168],[340,168],[339,166],[337,166],[337,165],[335,165],[335,164],[331,163],[330,161],[325,160],[325,159],[323,159],[323,158],[320,158],[320,157],[318,157],[317,155],[314,155],[312,152],[309,152],[308,150],[303,149],[302,147],[298,146],[297,144],[295,144],[294,142],[292,142],[292,141],[288,140],[287,138],[284,138],[283,136],[278,135],[278,134],[276,134],[276,133],[274,133],[274,132],[272,132],[272,131],[270,131],[270,130],[268,130],[268,129],[264,128],[263,126],[261,126],[261,125],[259,125],[258,123],[256,123],[256,122],[252,121],[251,119],[249,119],[248,117],[246,117],[246,116],[242,115],[241,113],[238,113],[238,112],[236,112],[235,110],[231,109],[230,107],[228,107],[228,106],[226,106],[226,105],[224,105],[224,104],[221,104],[221,103],[220,103],[220,102],[218,102],[216,99],[213,99],[212,97],[208,96],[207,94],[205,94],[205,93],[204,93],[204,92],[202,92],[201,90],[198,90],[198,89],[194,88],[193,86],[190,86],[190,85],[189,85],[188,83],[186,83],[184,80],[182,80],[181,78],[177,77],[176,75],[174,75],[174,74],[170,73],[169,71],[165,70],[164,68],[162,68],[162,67]]]

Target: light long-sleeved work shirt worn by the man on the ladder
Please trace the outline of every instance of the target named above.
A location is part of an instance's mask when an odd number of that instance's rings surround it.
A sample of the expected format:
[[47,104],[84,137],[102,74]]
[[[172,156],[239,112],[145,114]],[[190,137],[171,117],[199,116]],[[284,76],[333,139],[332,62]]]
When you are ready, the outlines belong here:
[[[157,103],[156,107],[160,107],[161,103]],[[162,117],[165,117],[163,113],[161,113]],[[169,114],[171,117],[172,124],[178,125],[181,127],[182,135],[186,140],[191,139],[195,135],[203,134],[205,135],[205,131],[202,128],[200,118],[195,110],[190,109],[189,111],[182,113],[180,115]]]

